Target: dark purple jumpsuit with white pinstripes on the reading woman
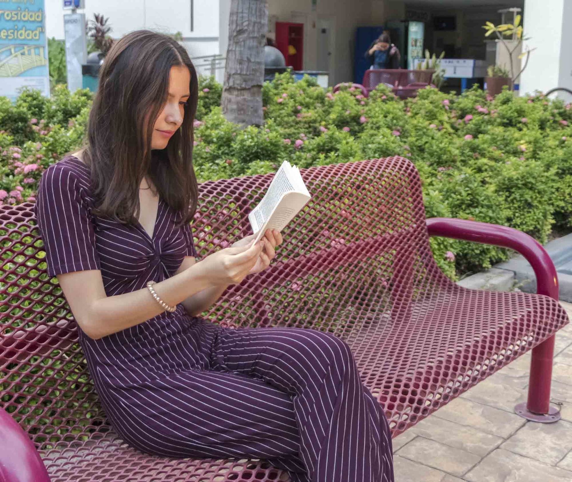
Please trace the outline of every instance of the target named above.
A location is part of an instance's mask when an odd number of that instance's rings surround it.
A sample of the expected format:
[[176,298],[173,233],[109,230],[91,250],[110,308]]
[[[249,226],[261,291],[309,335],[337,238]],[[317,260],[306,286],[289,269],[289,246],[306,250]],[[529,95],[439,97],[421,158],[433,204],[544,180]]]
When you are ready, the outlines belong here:
[[[163,200],[151,236],[93,215],[89,179],[74,156],[42,175],[35,214],[50,276],[100,270],[114,296],[196,256],[190,227],[177,228]],[[295,482],[394,480],[383,409],[333,335],[224,328],[182,304],[98,340],[79,335],[110,424],[142,452],[266,459]]]

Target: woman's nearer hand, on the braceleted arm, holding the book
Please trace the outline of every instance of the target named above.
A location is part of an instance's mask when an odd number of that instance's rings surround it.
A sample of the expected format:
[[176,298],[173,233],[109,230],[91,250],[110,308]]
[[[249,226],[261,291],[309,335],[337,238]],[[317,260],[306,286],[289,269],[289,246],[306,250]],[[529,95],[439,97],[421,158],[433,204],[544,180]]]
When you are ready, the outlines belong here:
[[215,286],[239,284],[255,266],[263,248],[263,240],[247,246],[224,248],[206,256],[199,263]]

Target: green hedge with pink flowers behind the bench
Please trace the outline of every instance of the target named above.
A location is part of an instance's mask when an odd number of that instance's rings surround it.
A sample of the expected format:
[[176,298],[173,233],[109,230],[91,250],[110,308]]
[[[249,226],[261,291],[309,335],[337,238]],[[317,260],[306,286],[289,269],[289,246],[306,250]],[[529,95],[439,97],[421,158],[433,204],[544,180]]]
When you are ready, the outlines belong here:
[[[542,95],[494,99],[423,89],[401,101],[384,85],[364,98],[350,85],[324,91],[312,78],[277,75],[263,86],[265,125],[241,129],[219,107],[222,87],[201,78],[194,167],[200,182],[403,155],[419,170],[427,217],[503,224],[545,242],[572,219],[572,109]],[[82,144],[91,94],[59,87],[51,99],[0,98],[0,203],[33,199],[41,172]],[[351,215],[351,214],[350,214]],[[431,239],[452,278],[507,258],[484,244]]]

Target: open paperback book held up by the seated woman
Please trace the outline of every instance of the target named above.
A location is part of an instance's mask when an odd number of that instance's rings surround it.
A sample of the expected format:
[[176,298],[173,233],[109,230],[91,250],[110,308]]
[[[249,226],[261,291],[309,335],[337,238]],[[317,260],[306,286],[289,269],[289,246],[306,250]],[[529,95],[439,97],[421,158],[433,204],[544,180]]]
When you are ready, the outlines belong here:
[[264,198],[248,215],[252,231],[256,234],[255,243],[267,229],[282,231],[310,199],[300,171],[285,160]]

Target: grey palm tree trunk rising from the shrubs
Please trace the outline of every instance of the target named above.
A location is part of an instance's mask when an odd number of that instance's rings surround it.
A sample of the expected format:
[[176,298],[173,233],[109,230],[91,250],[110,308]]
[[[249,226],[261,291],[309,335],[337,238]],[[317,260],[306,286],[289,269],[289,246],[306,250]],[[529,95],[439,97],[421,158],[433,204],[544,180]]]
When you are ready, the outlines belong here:
[[232,0],[221,105],[228,121],[264,123],[262,84],[268,29],[267,0]]

